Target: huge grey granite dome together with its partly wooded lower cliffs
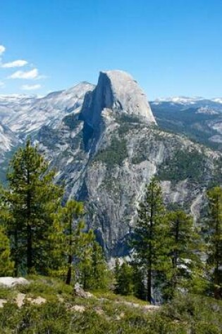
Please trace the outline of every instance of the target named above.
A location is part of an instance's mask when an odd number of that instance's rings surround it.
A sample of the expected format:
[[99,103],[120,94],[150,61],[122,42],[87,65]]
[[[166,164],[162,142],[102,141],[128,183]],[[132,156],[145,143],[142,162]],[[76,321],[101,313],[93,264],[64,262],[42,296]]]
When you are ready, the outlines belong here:
[[191,206],[197,219],[204,203],[197,210],[197,198],[204,198],[221,156],[156,127],[145,101],[130,75],[101,72],[80,113],[67,115],[54,129],[42,128],[37,137],[58,169],[57,181],[66,185],[66,198],[85,202],[87,224],[107,257],[128,254],[137,205],[154,174],[166,204],[187,211]]

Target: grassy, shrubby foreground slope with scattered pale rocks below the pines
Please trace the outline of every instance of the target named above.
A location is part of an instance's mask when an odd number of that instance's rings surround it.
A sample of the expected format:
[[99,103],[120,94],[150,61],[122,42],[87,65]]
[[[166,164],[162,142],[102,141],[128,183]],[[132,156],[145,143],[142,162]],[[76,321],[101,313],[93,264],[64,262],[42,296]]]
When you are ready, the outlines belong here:
[[[25,294],[23,307],[15,302],[18,293]],[[27,301],[36,297],[47,302]],[[222,302],[206,297],[180,296],[153,310],[135,297],[113,293],[97,292],[90,299],[75,297],[71,286],[52,278],[32,277],[30,285],[0,288],[0,298],[8,300],[0,308],[1,334],[222,333]]]

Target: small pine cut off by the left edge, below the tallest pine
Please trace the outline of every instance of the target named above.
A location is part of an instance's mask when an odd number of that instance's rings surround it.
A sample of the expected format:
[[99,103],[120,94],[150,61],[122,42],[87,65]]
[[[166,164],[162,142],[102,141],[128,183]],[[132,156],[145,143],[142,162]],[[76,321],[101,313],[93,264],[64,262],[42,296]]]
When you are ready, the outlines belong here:
[[11,276],[13,274],[13,266],[9,240],[4,228],[0,226],[0,276]]

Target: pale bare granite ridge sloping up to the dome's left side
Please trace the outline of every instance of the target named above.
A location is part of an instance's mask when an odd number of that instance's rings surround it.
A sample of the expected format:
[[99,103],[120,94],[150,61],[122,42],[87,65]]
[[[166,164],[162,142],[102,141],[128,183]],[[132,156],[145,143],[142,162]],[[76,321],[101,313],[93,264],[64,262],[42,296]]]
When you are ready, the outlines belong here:
[[43,125],[55,125],[70,112],[78,111],[85,93],[94,85],[81,82],[66,91],[55,91],[43,98],[0,96],[0,122],[20,136],[33,134]]

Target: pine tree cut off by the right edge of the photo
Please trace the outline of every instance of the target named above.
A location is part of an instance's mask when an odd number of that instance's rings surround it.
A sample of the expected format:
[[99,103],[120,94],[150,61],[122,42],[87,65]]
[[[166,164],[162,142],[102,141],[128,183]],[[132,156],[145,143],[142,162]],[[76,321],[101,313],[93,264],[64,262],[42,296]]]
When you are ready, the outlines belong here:
[[207,221],[207,269],[216,299],[222,298],[222,189],[214,187],[207,193],[209,219]]

